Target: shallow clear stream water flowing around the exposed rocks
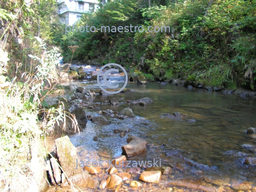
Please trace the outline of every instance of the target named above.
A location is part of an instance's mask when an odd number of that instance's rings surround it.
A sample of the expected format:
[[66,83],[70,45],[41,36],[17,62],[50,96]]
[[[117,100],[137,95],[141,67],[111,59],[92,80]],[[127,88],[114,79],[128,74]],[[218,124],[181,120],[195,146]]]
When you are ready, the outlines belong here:
[[[112,81],[112,84],[122,82]],[[100,91],[97,82],[74,82],[73,84]],[[103,86],[104,87],[104,86]],[[128,94],[96,95],[93,103],[99,103],[101,110],[120,111],[129,107],[135,118],[110,119],[110,125],[98,125],[91,121],[79,134],[70,136],[74,146],[80,149],[82,160],[112,159],[122,154],[121,146],[127,144],[128,134],[146,139],[154,147],[128,160],[153,161],[161,159],[162,165],[172,166],[175,174],[163,177],[168,182],[173,178],[211,178],[256,182],[255,166],[243,163],[245,156],[256,156],[244,149],[242,144],[256,146],[254,139],[246,135],[247,128],[256,127],[256,101],[244,100],[237,95],[222,92],[189,90],[171,84],[149,83],[138,85],[129,82]],[[120,99],[118,107],[110,106],[113,97]],[[126,103],[148,97],[153,103],[139,106]],[[185,119],[166,116],[180,112]],[[87,114],[97,116],[98,111],[86,109]],[[195,119],[189,122],[186,119]],[[130,128],[121,138],[113,132],[120,127]],[[97,136],[98,140],[93,141]],[[189,162],[192,162],[189,163]],[[177,171],[179,170],[179,171]]]

